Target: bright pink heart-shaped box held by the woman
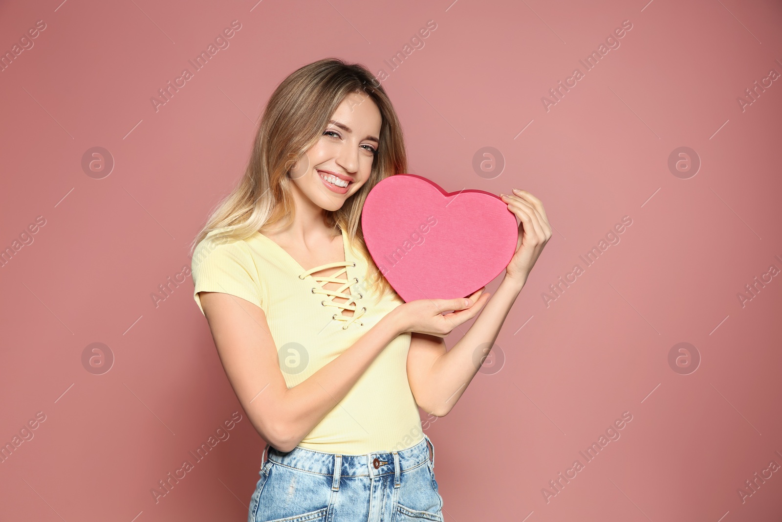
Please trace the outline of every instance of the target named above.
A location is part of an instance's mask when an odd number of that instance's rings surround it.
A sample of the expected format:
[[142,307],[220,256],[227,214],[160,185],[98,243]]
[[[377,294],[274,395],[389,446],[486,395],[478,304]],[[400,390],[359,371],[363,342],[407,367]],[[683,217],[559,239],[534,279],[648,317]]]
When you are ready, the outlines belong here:
[[373,187],[361,211],[369,254],[396,293],[416,299],[467,297],[508,266],[518,225],[492,193],[447,193],[419,175]]

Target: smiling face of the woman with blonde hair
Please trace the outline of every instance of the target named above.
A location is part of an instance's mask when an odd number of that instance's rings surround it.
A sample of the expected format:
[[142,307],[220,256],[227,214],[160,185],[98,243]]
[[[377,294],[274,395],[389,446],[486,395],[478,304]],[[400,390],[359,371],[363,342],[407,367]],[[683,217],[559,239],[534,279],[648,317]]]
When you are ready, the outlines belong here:
[[314,146],[288,172],[296,203],[339,210],[369,179],[381,124],[380,110],[368,95],[347,95]]

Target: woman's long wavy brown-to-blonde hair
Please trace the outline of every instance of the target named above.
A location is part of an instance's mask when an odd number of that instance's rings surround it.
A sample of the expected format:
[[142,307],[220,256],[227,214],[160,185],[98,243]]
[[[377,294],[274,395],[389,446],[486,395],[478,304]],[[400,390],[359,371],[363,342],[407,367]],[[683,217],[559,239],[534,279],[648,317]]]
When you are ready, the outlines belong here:
[[[249,163],[239,184],[224,197],[195,237],[190,254],[206,238],[216,243],[249,237],[262,230],[285,228],[296,212],[289,168],[321,137],[346,95],[368,95],[382,116],[378,153],[369,179],[337,211],[324,209],[326,225],[345,229],[353,249],[368,260],[366,280],[380,296],[393,292],[372,260],[361,230],[361,209],[369,191],[382,179],[407,171],[402,128],[380,82],[360,63],[337,58],[300,67],[278,85],[266,104]],[[378,297],[379,298],[379,297]]]

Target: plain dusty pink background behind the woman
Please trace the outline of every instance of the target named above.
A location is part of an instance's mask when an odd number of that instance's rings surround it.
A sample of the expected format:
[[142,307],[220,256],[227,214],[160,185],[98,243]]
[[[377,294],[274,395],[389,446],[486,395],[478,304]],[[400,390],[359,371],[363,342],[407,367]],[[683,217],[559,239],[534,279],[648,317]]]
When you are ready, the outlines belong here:
[[[45,415],[0,464],[0,518],[246,519],[264,442],[243,413],[165,497],[150,493],[241,411],[192,280],[157,306],[151,294],[190,265],[274,87],[338,56],[389,74],[412,173],[448,191],[527,189],[555,229],[492,357],[425,423],[445,520],[780,519],[782,472],[744,502],[737,490],[782,465],[782,277],[743,306],[737,294],[782,269],[782,82],[744,110],[737,98],[782,73],[782,7],[451,1],[0,6],[2,52],[46,24],[0,72],[0,247],[45,219],[0,268],[0,444]],[[156,111],[152,96],[231,20],[228,49]],[[425,46],[391,70],[428,20]],[[619,49],[547,111],[541,97],[623,20]],[[115,161],[101,179],[81,165],[94,146]],[[501,173],[473,169],[485,146]],[[668,167],[680,146],[701,160],[687,179]],[[623,216],[620,243],[584,268]],[[102,375],[82,362],[96,342],[114,357]],[[680,342],[701,357],[694,373],[669,365]],[[619,440],[547,502],[622,412]]]

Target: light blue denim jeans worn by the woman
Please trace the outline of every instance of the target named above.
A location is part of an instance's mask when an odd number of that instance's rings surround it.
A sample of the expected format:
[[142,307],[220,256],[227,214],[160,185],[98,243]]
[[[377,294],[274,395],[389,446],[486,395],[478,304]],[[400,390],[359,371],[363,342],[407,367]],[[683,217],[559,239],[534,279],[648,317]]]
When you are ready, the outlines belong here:
[[267,449],[247,522],[443,522],[434,445],[426,435],[400,452],[339,455]]

